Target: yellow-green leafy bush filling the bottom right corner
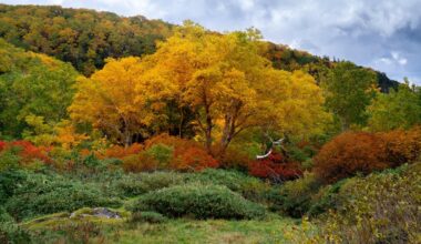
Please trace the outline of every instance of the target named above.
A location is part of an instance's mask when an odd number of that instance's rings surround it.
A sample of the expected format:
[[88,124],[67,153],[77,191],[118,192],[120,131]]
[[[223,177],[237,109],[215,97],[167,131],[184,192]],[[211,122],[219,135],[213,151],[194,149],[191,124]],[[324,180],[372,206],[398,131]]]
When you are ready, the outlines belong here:
[[386,172],[347,181],[338,210],[320,225],[325,240],[337,243],[419,243],[421,163],[402,173]]

